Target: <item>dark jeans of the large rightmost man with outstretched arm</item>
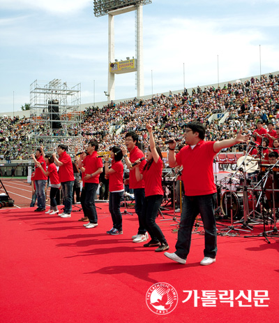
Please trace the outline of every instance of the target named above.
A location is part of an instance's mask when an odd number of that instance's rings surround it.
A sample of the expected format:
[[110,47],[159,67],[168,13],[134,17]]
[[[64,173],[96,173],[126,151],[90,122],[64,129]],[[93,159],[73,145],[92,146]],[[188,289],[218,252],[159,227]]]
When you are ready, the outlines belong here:
[[216,193],[209,195],[184,196],[176,242],[176,254],[186,259],[190,251],[192,229],[200,213],[204,224],[204,257],[215,258],[217,253],[217,230],[214,216]]

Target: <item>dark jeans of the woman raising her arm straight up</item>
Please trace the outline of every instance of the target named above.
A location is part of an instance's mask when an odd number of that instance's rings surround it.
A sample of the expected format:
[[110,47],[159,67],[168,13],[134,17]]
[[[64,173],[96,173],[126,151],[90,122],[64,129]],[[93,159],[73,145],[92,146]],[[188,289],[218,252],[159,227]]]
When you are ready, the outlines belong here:
[[160,243],[167,243],[162,230],[158,224],[156,224],[156,217],[162,201],[162,195],[146,196],[142,207],[142,217],[151,239],[154,241],[160,241]]

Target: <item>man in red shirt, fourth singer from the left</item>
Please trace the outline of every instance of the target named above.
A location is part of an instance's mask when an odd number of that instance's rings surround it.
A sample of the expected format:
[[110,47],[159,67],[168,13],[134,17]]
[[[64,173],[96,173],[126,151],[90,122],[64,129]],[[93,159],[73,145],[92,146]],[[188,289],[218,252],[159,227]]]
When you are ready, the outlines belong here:
[[79,168],[85,168],[83,178],[84,188],[80,202],[84,216],[89,218],[89,223],[84,224],[86,229],[95,228],[98,226],[98,215],[95,206],[95,196],[99,184],[100,173],[103,171],[103,161],[98,158],[98,143],[97,141],[89,141],[86,153],[80,155],[78,161]]

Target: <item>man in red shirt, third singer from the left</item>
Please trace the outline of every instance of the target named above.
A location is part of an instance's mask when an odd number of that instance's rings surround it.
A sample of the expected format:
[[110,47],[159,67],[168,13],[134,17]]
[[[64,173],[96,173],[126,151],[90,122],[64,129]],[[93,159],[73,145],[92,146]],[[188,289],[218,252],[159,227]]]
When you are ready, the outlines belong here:
[[61,213],[60,217],[70,217],[70,213],[72,212],[72,204],[73,204],[73,185],[75,181],[73,164],[70,155],[67,154],[68,146],[59,145],[57,147],[57,154],[59,155],[59,159],[57,159],[56,154],[52,154],[54,157],[54,162],[57,166],[59,166],[59,180],[61,182],[61,192],[64,210]]

